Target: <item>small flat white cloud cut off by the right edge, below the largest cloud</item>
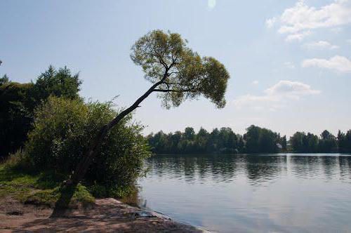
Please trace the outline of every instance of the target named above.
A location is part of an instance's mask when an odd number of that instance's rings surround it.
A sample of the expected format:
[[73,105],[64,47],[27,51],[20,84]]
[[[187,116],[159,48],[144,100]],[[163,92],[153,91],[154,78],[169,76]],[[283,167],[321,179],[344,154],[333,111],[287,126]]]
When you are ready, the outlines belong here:
[[329,60],[312,58],[302,62],[302,67],[319,67],[324,69],[332,69],[336,72],[348,73],[351,72],[351,60],[343,56],[333,56]]

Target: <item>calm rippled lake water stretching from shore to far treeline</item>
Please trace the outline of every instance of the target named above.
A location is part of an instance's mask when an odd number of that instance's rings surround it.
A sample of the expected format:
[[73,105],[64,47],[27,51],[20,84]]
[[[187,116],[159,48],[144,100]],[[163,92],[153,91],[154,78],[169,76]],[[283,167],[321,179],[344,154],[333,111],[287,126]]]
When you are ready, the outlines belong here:
[[147,161],[141,202],[215,232],[351,232],[351,155],[174,155]]

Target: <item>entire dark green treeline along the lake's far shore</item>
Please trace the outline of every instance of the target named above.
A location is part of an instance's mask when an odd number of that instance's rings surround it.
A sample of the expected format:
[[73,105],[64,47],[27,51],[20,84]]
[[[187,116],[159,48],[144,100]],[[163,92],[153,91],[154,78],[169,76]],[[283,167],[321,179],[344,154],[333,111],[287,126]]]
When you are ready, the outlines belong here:
[[351,153],[351,130],[338,132],[337,136],[329,131],[321,135],[296,132],[288,140],[267,128],[250,126],[244,135],[234,133],[231,128],[215,128],[211,133],[201,128],[195,133],[187,127],[184,132],[151,133],[147,135],[152,152],[155,154],[203,154],[203,153]]

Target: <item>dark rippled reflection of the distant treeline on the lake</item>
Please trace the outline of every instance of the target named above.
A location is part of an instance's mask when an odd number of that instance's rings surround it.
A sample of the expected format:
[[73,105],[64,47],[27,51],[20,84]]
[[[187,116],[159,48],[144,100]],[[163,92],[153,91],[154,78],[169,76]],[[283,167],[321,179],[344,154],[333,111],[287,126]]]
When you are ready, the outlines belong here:
[[251,184],[260,185],[286,175],[288,171],[302,179],[311,179],[321,173],[327,180],[336,175],[351,178],[350,157],[338,154],[164,155],[148,159],[145,165],[159,178],[186,182],[202,182],[208,178],[231,182],[237,174],[245,174]]

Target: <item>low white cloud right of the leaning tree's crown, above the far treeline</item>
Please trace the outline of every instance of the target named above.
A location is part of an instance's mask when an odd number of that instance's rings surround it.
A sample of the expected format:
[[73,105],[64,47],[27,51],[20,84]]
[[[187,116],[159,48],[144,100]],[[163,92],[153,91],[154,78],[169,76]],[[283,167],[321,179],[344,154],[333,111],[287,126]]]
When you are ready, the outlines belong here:
[[281,80],[264,91],[264,95],[241,95],[234,100],[238,108],[247,106],[254,109],[276,110],[285,107],[289,101],[299,100],[304,95],[317,95],[321,91],[312,89],[299,81]]

